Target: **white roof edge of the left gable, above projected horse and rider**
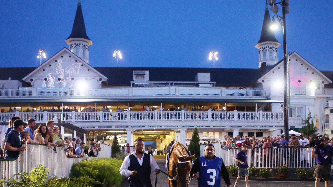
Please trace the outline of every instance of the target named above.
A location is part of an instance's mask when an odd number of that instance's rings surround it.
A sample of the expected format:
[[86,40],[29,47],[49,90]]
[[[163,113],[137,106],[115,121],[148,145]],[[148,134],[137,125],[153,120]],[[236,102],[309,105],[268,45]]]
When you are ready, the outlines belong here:
[[[101,77],[103,77],[105,80],[107,80],[108,78],[105,77],[103,74],[101,74],[99,71],[97,71],[96,69],[94,69],[92,66],[90,66],[88,63],[86,63],[84,60],[82,60],[80,57],[78,57],[77,55],[75,55],[74,53],[72,53],[69,49],[67,48],[63,48],[62,50],[60,50],[58,53],[56,53],[55,55],[53,55],[51,58],[49,58],[47,61],[45,61],[43,64],[41,64],[40,66],[38,66],[37,68],[35,68],[33,71],[31,71],[28,75],[26,75],[25,77],[21,78],[23,81],[27,81],[27,79],[33,75],[35,72],[41,71],[43,69],[44,66],[46,66],[50,61],[53,61],[55,58],[57,58],[58,55],[60,55],[62,52],[68,52],[70,55],[73,55],[74,57],[76,57],[77,59],[79,59],[79,61],[81,61],[82,64],[84,64],[85,66],[88,66],[92,71],[96,72],[97,74],[99,74]],[[23,69],[23,68],[21,68]],[[19,79],[20,80],[20,79]]]

